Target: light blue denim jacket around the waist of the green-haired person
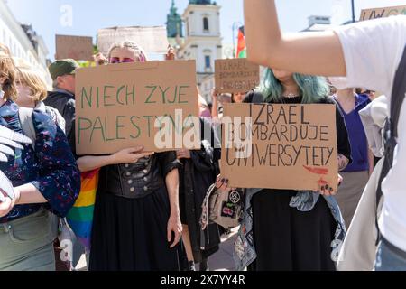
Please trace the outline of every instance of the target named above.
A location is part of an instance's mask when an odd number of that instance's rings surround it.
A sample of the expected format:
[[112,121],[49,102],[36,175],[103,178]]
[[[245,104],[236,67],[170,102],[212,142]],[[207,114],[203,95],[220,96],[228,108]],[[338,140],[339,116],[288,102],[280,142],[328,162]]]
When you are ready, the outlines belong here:
[[[256,259],[256,252],[254,247],[254,228],[253,228],[253,208],[251,200],[254,194],[262,191],[263,189],[246,189],[245,190],[245,203],[244,203],[244,216],[238,231],[237,238],[234,246],[234,261],[236,270],[242,271],[246,266],[249,266]],[[312,210],[318,202],[320,194],[312,191],[298,191],[296,196],[291,198],[290,206],[300,211]],[[340,248],[346,237],[346,226],[341,211],[338,207],[337,200],[332,196],[323,196],[327,203],[331,214],[337,222],[336,233],[333,241],[331,242],[331,259],[336,262]]]

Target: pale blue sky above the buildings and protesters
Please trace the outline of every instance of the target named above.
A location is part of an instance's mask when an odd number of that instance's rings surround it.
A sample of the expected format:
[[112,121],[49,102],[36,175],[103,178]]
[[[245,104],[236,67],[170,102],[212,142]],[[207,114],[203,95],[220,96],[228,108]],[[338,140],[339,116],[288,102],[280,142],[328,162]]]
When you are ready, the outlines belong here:
[[[96,36],[97,29],[111,26],[162,25],[171,6],[171,0],[8,0],[14,16],[21,23],[32,23],[41,34],[49,50],[55,51],[55,34]],[[175,0],[183,13],[189,0]],[[61,23],[63,11],[72,9],[72,23]],[[243,0],[217,0],[221,5],[221,32],[223,42],[232,43],[233,23],[243,23]],[[307,27],[312,14],[333,16],[333,23],[351,19],[350,0],[279,0],[277,1],[281,27],[286,32]],[[355,0],[356,18],[363,8],[406,5],[406,0]],[[63,20],[63,19],[62,19]]]

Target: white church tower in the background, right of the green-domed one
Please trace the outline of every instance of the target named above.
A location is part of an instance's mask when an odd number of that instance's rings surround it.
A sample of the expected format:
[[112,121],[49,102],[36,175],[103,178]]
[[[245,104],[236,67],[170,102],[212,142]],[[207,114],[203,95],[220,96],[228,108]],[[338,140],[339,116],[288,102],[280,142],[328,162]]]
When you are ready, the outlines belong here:
[[211,0],[189,0],[182,15],[185,38],[178,57],[196,60],[198,85],[213,75],[215,60],[222,57],[220,8]]

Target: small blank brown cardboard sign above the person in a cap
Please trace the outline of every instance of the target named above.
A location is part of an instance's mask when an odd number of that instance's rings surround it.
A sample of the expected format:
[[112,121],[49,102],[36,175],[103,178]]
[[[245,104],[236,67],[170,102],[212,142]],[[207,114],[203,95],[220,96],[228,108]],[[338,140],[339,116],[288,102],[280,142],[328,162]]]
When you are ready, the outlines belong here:
[[71,58],[76,61],[93,61],[93,38],[87,36],[56,35],[57,60]]

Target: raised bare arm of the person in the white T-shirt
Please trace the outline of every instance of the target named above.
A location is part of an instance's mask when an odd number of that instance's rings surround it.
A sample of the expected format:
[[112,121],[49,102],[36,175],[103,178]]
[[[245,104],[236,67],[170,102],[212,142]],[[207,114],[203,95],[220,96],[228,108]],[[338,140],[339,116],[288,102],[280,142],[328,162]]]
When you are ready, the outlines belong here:
[[344,52],[336,33],[282,34],[274,0],[245,0],[244,10],[250,61],[303,74],[346,76]]

